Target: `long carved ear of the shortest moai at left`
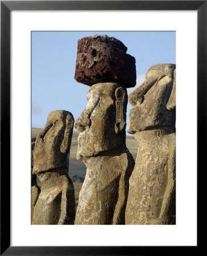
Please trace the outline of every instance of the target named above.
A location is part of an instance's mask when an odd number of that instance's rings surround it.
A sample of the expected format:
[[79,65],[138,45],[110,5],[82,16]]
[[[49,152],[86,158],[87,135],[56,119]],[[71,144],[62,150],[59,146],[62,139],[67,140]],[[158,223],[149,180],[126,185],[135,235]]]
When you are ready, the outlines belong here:
[[68,114],[65,122],[66,122],[66,125],[65,125],[64,138],[63,138],[63,142],[61,143],[61,146],[60,146],[60,152],[62,152],[64,154],[69,152],[69,149],[71,147],[71,140],[72,140],[72,135],[73,135],[73,124],[74,124],[73,115]]

